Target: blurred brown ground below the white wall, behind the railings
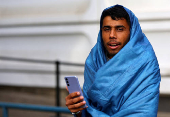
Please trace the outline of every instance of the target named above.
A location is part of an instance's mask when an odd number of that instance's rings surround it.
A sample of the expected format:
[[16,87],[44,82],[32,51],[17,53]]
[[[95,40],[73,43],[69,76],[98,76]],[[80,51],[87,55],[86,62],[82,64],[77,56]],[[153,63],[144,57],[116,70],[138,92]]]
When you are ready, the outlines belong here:
[[[61,106],[65,107],[66,90],[61,90]],[[0,101],[24,104],[55,106],[55,89],[52,88],[21,88],[0,86]],[[0,109],[2,117],[2,109]],[[56,117],[55,113],[9,109],[9,117]],[[73,117],[61,114],[61,117]],[[170,117],[170,113],[158,112],[158,117]]]

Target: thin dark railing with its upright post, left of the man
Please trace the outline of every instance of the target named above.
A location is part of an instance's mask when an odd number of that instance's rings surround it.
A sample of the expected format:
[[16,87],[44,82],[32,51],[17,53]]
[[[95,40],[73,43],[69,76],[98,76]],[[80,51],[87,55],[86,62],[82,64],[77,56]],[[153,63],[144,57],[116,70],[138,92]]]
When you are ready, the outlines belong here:
[[[60,82],[60,74],[61,74],[60,65],[82,66],[82,67],[84,67],[84,64],[78,64],[78,63],[69,63],[69,62],[60,62],[60,61],[48,61],[48,60],[35,60],[35,59],[23,59],[23,58],[4,57],[4,56],[0,56],[0,60],[55,65],[55,67],[56,67],[56,69],[55,69],[55,77],[56,77],[56,87],[55,87],[56,97],[55,97],[55,99],[56,99],[56,104],[55,105],[57,107],[60,106],[60,84],[59,84],[59,82]],[[30,71],[30,72],[32,72],[32,71]],[[57,114],[57,116],[59,116],[59,113]]]

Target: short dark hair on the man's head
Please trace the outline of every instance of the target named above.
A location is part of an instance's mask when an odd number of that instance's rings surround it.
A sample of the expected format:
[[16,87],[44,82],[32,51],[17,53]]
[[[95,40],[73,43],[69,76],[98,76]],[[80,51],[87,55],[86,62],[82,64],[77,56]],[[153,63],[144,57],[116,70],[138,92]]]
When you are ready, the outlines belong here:
[[106,9],[103,11],[102,16],[101,16],[101,27],[103,24],[103,19],[106,16],[111,16],[113,20],[120,20],[120,19],[126,19],[129,27],[130,27],[130,18],[129,14],[126,12],[126,10],[123,8],[123,6],[116,5],[114,7],[111,7],[109,9]]

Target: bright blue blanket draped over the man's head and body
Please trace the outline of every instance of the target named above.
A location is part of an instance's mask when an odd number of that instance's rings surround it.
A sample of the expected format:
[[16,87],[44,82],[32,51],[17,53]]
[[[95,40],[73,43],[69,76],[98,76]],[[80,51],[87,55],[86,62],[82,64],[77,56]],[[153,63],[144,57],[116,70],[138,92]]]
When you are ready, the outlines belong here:
[[137,17],[124,9],[131,22],[130,41],[107,61],[99,31],[86,59],[83,92],[88,108],[82,117],[157,116],[161,79],[158,61]]

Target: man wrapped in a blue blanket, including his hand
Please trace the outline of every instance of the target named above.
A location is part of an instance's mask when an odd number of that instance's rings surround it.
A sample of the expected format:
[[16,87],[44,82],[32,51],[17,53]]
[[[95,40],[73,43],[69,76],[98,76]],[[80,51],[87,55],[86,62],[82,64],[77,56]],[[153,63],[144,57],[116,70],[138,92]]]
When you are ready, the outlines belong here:
[[103,11],[100,29],[85,63],[84,97],[69,94],[66,106],[77,117],[156,117],[160,70],[138,19],[115,5]]

